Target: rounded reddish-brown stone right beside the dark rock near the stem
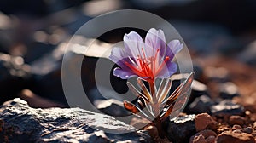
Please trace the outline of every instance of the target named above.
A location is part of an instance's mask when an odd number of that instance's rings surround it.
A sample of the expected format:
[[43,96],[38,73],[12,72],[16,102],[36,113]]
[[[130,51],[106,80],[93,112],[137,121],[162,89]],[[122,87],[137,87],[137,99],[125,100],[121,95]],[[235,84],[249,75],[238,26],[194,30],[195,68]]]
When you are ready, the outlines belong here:
[[195,116],[195,129],[201,131],[203,129],[217,129],[217,122],[207,113],[201,113]]

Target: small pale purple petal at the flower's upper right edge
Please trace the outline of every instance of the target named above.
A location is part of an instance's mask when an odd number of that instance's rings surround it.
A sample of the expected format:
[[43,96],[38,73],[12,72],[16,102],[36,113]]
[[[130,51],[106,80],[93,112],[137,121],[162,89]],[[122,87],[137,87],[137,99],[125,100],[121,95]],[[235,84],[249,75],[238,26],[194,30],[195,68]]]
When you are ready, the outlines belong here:
[[172,59],[181,49],[183,49],[183,43],[180,43],[179,40],[172,40],[167,45],[166,55]]

